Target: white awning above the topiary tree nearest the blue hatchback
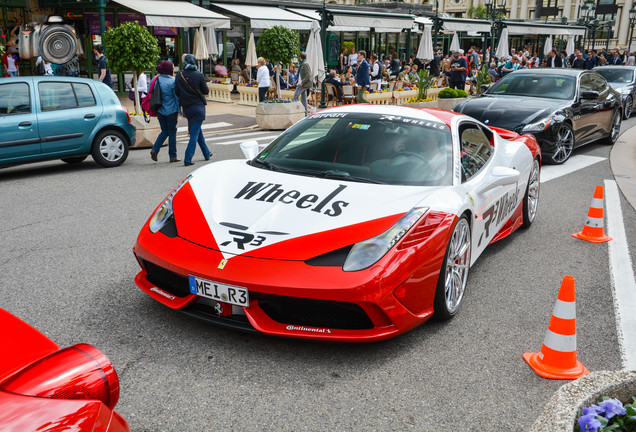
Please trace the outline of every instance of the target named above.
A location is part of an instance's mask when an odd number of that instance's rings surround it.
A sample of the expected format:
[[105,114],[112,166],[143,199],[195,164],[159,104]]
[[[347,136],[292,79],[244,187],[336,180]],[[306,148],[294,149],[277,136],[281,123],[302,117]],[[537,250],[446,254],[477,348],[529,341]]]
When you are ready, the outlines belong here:
[[146,24],[160,27],[230,28],[230,19],[188,1],[113,0],[146,16]]

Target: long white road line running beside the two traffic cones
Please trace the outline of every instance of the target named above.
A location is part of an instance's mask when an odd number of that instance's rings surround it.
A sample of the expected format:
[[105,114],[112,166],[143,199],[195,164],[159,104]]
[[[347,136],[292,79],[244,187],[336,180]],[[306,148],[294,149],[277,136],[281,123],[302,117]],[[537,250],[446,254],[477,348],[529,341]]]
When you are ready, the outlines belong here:
[[636,281],[625,235],[620,195],[614,180],[605,180],[605,198],[607,235],[613,238],[607,247],[618,341],[623,368],[632,370],[636,369]]

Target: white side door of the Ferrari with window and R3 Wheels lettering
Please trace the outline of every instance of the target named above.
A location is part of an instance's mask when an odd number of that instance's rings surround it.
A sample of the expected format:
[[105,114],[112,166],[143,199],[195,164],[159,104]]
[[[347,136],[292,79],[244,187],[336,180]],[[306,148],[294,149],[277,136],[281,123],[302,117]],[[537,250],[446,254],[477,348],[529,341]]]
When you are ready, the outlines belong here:
[[[510,218],[519,198],[518,176],[493,185],[495,147],[493,134],[481,125],[464,121],[458,127],[461,181],[474,204],[473,256],[488,246]],[[514,170],[510,170],[510,173]],[[498,174],[496,171],[494,174]],[[505,183],[505,184],[504,184]]]

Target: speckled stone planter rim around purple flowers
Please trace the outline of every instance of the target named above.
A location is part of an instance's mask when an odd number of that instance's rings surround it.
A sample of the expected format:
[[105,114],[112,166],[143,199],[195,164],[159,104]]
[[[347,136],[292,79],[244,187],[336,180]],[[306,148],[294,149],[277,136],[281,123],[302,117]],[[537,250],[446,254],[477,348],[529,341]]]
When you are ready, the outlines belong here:
[[572,432],[576,412],[607,395],[631,402],[636,394],[636,371],[599,371],[563,385],[552,396],[530,432]]

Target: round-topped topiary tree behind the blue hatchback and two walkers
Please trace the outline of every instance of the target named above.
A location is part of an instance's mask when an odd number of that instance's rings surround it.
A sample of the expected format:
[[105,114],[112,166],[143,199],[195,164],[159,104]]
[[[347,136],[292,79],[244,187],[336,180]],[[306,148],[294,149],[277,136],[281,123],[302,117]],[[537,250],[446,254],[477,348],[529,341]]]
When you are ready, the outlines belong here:
[[157,64],[161,53],[157,38],[137,22],[127,22],[109,29],[104,34],[104,49],[108,58],[108,67],[113,72],[133,71],[135,111],[141,112],[137,75],[146,69],[154,68]]

